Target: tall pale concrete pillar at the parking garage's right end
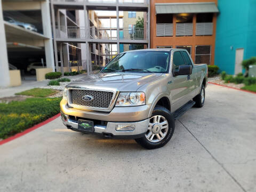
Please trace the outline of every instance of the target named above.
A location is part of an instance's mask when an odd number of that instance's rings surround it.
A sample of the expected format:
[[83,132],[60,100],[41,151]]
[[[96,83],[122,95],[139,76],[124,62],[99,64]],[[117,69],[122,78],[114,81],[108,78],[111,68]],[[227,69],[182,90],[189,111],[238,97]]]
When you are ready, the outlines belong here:
[[52,30],[51,25],[49,25],[49,23],[51,23],[49,0],[41,2],[41,9],[44,35],[47,38],[49,38],[44,40],[46,67],[52,68],[52,71],[55,71],[52,44]]

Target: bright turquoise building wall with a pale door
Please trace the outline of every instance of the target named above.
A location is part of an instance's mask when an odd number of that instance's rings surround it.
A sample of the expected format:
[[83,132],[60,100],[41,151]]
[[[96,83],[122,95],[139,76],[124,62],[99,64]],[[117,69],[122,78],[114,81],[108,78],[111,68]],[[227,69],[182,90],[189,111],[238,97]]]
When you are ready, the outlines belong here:
[[227,74],[241,73],[241,62],[256,56],[256,1],[219,1],[215,65]]

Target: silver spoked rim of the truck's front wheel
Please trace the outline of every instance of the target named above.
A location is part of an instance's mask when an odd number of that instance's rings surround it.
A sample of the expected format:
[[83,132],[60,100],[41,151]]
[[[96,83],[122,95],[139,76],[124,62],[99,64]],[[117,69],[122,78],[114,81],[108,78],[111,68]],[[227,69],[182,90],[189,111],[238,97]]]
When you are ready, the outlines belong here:
[[162,141],[169,130],[169,124],[162,115],[155,115],[149,119],[148,131],[145,134],[150,142]]

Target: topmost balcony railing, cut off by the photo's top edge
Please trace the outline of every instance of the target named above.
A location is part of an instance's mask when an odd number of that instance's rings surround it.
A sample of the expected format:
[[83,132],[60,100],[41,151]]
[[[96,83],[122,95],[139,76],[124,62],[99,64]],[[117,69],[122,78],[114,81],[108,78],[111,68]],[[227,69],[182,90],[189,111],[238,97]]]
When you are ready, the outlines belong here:
[[51,0],[52,2],[89,2],[89,3],[147,3],[147,0]]

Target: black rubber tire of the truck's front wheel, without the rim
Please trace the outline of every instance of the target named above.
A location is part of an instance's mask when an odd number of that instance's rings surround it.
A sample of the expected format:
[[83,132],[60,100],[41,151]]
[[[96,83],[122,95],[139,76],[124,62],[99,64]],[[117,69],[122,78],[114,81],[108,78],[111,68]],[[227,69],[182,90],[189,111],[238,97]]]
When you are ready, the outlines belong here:
[[144,137],[139,138],[139,139],[135,139],[135,141],[137,143],[139,143],[142,147],[146,148],[146,149],[157,149],[160,147],[163,147],[164,145],[166,145],[167,142],[170,141],[170,139],[172,138],[174,129],[175,129],[175,121],[174,118],[171,114],[171,112],[162,107],[162,106],[156,106],[153,110],[152,116],[156,116],[156,115],[161,115],[163,117],[165,117],[166,121],[168,122],[168,131],[166,131],[166,135],[165,137],[159,141],[159,142],[150,142],[147,138],[146,135],[144,135]]

